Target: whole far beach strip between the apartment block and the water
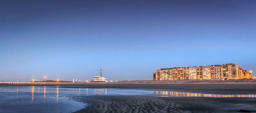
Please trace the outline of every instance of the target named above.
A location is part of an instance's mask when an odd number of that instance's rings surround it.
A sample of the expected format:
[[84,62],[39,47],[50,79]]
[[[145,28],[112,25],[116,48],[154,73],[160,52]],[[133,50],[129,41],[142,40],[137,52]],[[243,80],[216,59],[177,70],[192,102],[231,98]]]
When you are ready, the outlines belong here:
[[141,80],[106,83],[0,84],[0,86],[72,86],[73,88],[143,88],[222,94],[256,94],[256,80]]

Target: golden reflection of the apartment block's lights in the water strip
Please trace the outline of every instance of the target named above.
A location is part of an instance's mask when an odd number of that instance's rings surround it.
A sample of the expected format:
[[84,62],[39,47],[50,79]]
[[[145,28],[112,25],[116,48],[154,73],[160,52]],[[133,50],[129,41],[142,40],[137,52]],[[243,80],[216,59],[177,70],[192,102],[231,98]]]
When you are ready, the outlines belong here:
[[221,94],[198,94],[198,93],[185,93],[185,92],[168,92],[168,91],[155,91],[155,94],[170,95],[170,96],[195,96],[195,97],[255,97],[256,95],[221,95]]

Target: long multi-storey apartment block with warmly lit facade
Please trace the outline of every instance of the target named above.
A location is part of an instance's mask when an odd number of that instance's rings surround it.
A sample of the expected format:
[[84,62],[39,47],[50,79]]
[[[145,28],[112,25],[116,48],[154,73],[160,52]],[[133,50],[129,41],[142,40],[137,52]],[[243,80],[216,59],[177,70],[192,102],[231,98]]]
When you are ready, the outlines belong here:
[[251,79],[251,73],[237,64],[157,69],[154,80],[236,80]]

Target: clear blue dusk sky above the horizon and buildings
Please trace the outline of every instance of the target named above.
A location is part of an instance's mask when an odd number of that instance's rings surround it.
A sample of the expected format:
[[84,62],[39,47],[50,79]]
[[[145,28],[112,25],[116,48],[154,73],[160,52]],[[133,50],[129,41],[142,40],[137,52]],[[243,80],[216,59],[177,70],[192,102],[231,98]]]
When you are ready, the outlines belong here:
[[256,0],[0,0],[0,81],[225,63],[256,73]]

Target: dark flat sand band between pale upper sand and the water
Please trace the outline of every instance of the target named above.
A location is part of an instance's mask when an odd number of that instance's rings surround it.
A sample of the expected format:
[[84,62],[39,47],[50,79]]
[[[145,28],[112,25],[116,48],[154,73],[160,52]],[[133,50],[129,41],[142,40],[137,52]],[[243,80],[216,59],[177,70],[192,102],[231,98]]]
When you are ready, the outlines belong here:
[[[254,83],[205,83],[205,84],[116,84],[116,83],[81,83],[81,84],[44,84],[41,86],[59,86],[63,88],[143,88],[159,91],[186,91],[210,94],[256,94]],[[31,86],[31,85],[0,85],[0,86]],[[38,85],[34,85],[38,86]]]

